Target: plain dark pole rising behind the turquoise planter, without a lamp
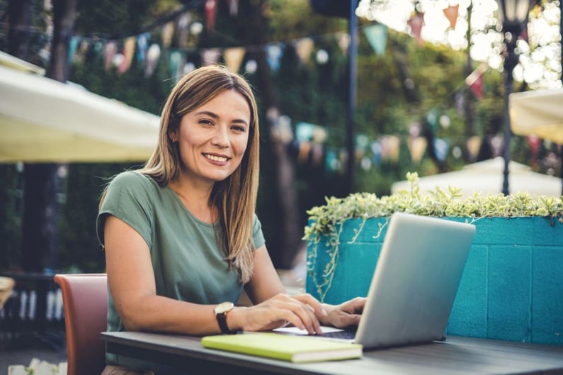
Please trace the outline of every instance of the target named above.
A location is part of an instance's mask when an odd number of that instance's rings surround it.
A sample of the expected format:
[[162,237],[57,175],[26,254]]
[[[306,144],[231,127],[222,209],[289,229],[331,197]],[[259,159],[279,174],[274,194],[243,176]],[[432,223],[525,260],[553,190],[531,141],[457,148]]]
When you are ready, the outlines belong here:
[[356,112],[356,55],[358,54],[358,36],[356,27],[356,6],[358,0],[350,1],[350,46],[348,47],[348,121],[346,126],[346,150],[348,152],[346,168],[346,194],[351,194],[356,172],[356,147],[354,142],[354,113]]

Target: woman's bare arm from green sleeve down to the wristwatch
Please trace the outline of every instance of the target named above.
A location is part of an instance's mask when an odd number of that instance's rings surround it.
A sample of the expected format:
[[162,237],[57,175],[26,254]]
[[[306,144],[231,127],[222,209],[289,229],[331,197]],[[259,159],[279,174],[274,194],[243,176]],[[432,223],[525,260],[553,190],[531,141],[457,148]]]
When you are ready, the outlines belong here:
[[147,242],[115,216],[104,226],[108,284],[115,308],[127,330],[219,333],[212,305],[157,296]]

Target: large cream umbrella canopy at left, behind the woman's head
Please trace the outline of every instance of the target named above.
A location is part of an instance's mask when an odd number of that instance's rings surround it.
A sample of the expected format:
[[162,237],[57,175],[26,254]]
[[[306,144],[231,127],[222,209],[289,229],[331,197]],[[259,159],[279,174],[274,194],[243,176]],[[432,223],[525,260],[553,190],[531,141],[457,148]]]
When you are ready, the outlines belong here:
[[0,66],[0,162],[144,161],[159,116]]

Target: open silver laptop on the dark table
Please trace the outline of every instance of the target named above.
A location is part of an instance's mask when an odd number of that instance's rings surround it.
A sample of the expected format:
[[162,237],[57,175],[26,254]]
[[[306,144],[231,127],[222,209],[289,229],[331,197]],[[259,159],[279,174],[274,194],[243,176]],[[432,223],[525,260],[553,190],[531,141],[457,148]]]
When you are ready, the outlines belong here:
[[[357,330],[323,327],[315,337],[364,349],[445,340],[475,226],[399,212],[388,225]],[[334,337],[343,333],[352,337]]]

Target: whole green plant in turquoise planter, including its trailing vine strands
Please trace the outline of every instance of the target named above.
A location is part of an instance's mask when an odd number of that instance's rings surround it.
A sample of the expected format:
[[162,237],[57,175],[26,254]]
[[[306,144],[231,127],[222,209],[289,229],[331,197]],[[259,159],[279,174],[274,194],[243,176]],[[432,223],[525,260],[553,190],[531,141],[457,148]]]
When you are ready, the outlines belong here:
[[[419,175],[416,172],[406,174],[409,189],[397,194],[378,197],[371,193],[354,193],[346,198],[326,198],[324,206],[315,206],[307,211],[309,224],[305,227],[303,240],[307,240],[307,273],[314,282],[319,299],[324,301],[329,291],[334,271],[339,259],[341,233],[344,223],[350,219],[362,219],[358,228],[354,228],[352,240],[356,239],[370,218],[387,218],[380,224],[380,230],[374,237],[379,237],[387,225],[389,216],[399,211],[421,216],[461,217],[474,222],[480,218],[516,218],[525,216],[543,216],[563,223],[563,196],[535,196],[525,192],[513,195],[472,194],[464,196],[461,189],[450,186],[447,191],[436,187],[430,194],[422,195],[419,188]],[[329,262],[317,278],[315,268],[319,245],[324,241]]]

